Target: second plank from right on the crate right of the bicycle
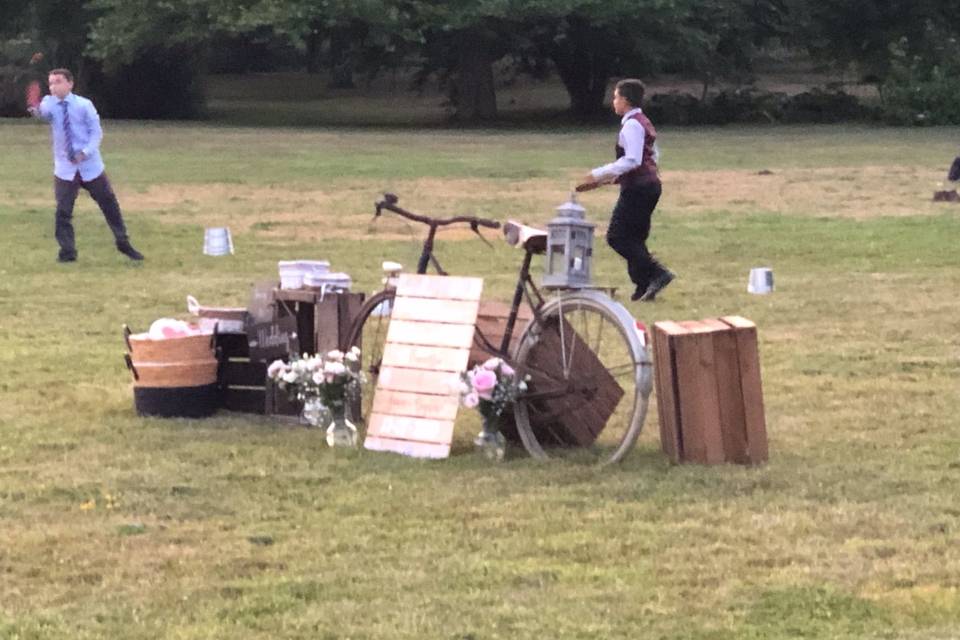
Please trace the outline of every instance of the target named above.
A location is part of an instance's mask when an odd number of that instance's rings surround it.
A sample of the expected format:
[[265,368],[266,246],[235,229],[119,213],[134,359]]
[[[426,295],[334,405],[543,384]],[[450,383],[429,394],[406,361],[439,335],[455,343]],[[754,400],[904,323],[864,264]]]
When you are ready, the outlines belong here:
[[726,462],[748,462],[747,432],[743,414],[743,391],[737,359],[737,339],[730,327],[720,320],[703,320],[713,329],[714,373],[720,403],[720,431],[723,459]]

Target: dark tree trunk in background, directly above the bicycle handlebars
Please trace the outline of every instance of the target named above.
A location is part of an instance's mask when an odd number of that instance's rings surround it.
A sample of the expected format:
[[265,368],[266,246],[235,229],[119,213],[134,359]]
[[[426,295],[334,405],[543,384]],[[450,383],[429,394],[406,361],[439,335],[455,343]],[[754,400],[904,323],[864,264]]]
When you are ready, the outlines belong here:
[[497,117],[497,94],[493,86],[493,60],[478,29],[457,34],[458,58],[454,81],[455,118],[461,122],[480,122]]

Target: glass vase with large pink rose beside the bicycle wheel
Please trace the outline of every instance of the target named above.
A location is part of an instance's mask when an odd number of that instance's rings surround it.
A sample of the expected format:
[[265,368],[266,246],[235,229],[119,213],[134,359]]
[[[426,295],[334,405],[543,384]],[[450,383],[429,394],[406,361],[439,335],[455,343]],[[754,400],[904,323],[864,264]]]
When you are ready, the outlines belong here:
[[460,374],[460,401],[480,412],[483,428],[473,443],[491,460],[503,460],[507,441],[500,432],[500,417],[507,406],[527,390],[525,378],[501,358],[490,358]]

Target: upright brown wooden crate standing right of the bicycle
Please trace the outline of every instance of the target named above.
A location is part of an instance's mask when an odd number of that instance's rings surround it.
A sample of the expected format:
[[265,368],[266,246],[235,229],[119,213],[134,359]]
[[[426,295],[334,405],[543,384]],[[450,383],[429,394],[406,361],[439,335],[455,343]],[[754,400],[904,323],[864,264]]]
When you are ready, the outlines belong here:
[[673,462],[767,460],[757,329],[727,316],[653,327],[660,442]]

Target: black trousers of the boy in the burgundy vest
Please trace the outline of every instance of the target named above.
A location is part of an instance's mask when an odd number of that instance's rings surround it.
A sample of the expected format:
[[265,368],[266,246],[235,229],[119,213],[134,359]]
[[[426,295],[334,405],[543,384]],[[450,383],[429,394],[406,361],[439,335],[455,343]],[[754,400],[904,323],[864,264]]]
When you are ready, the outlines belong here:
[[607,244],[627,261],[627,273],[641,290],[666,269],[647,250],[650,218],[660,200],[660,182],[620,190],[620,199],[610,216]]

